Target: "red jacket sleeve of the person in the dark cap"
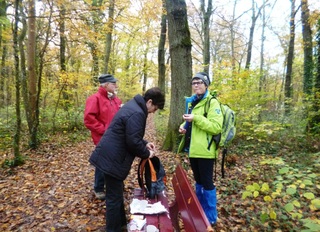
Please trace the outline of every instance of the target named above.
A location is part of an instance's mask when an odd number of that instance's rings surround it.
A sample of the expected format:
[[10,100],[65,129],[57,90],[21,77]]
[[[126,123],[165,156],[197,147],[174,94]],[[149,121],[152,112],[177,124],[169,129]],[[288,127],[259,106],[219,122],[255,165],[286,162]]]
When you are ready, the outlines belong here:
[[84,110],[84,125],[92,132],[103,135],[105,127],[98,119],[99,104],[96,96],[89,97]]

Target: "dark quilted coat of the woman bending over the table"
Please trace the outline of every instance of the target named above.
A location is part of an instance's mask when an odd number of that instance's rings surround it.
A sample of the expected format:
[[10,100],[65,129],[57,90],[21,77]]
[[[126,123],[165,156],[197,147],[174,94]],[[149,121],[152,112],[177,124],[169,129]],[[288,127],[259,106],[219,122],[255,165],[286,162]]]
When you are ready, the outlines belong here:
[[143,139],[147,117],[146,102],[138,94],[114,116],[89,162],[105,174],[124,180],[136,156],[145,159],[150,155]]

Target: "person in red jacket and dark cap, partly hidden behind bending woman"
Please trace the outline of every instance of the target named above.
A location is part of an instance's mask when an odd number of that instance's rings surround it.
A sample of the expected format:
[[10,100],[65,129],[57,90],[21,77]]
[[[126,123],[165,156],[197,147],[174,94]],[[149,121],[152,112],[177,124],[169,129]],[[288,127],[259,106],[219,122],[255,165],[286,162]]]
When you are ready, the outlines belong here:
[[[98,145],[122,105],[122,101],[116,95],[117,79],[111,74],[102,74],[99,76],[99,82],[98,91],[87,99],[84,111],[84,125],[90,130],[94,145]],[[100,200],[105,199],[104,185],[104,173],[95,168],[94,193]]]

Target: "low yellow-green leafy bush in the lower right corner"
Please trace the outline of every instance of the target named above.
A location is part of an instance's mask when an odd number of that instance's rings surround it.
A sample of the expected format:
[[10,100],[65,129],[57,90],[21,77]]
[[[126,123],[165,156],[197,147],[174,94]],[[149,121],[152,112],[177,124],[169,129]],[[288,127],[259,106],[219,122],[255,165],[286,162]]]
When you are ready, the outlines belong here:
[[[312,159],[318,157],[318,154],[309,156],[308,158]],[[313,160],[317,163],[317,158]],[[260,206],[261,222],[299,220],[302,228],[308,228],[305,231],[319,231],[320,220],[312,216],[320,210],[320,198],[315,194],[320,190],[317,182],[319,173],[308,166],[304,169],[294,168],[280,157],[263,157],[260,164],[271,166],[278,172],[270,182],[247,185],[242,192],[242,200],[260,198],[257,201],[264,202]]]

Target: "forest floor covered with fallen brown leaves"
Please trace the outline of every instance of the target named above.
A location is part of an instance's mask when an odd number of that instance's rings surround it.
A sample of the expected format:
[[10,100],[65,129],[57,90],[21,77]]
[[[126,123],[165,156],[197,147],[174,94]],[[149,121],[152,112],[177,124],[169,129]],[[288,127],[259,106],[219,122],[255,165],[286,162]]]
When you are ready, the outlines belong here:
[[[156,141],[155,133],[153,121],[148,120],[146,139]],[[88,138],[61,146],[59,140],[62,139],[57,137],[54,143],[43,143],[37,151],[25,152],[27,160],[23,166],[9,171],[0,169],[0,231],[104,231],[105,202],[94,197],[94,168],[88,162],[94,148],[92,141]],[[188,159],[165,151],[160,151],[159,157],[167,172],[167,195],[172,201],[172,173],[177,162],[188,165]],[[216,231],[267,231],[250,223],[248,218],[247,212],[259,210],[258,205],[241,200],[241,192],[250,182],[246,163],[254,166],[259,162],[258,158],[246,157],[234,160],[224,179],[217,165],[219,220]],[[137,167],[136,159],[125,180],[128,216],[132,190],[138,187]],[[190,169],[187,173],[193,185]]]

